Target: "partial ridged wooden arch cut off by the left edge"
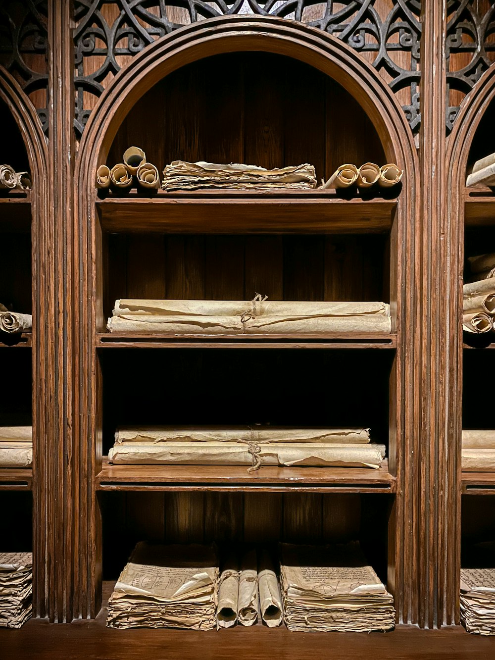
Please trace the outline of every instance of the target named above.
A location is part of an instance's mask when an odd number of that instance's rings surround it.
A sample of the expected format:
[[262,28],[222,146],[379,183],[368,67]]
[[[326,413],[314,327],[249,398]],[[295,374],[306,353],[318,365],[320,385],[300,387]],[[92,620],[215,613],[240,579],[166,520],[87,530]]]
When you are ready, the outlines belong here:
[[[32,253],[32,422],[34,429],[33,461],[33,610],[38,616],[48,611],[49,456],[53,433],[53,373],[49,369],[49,351],[53,346],[53,270],[48,253],[53,244],[49,231],[48,145],[36,109],[13,77],[0,66],[0,98],[7,104],[26,145],[32,178],[31,253]],[[50,275],[51,273],[51,275]],[[43,356],[43,359],[42,359]]]

